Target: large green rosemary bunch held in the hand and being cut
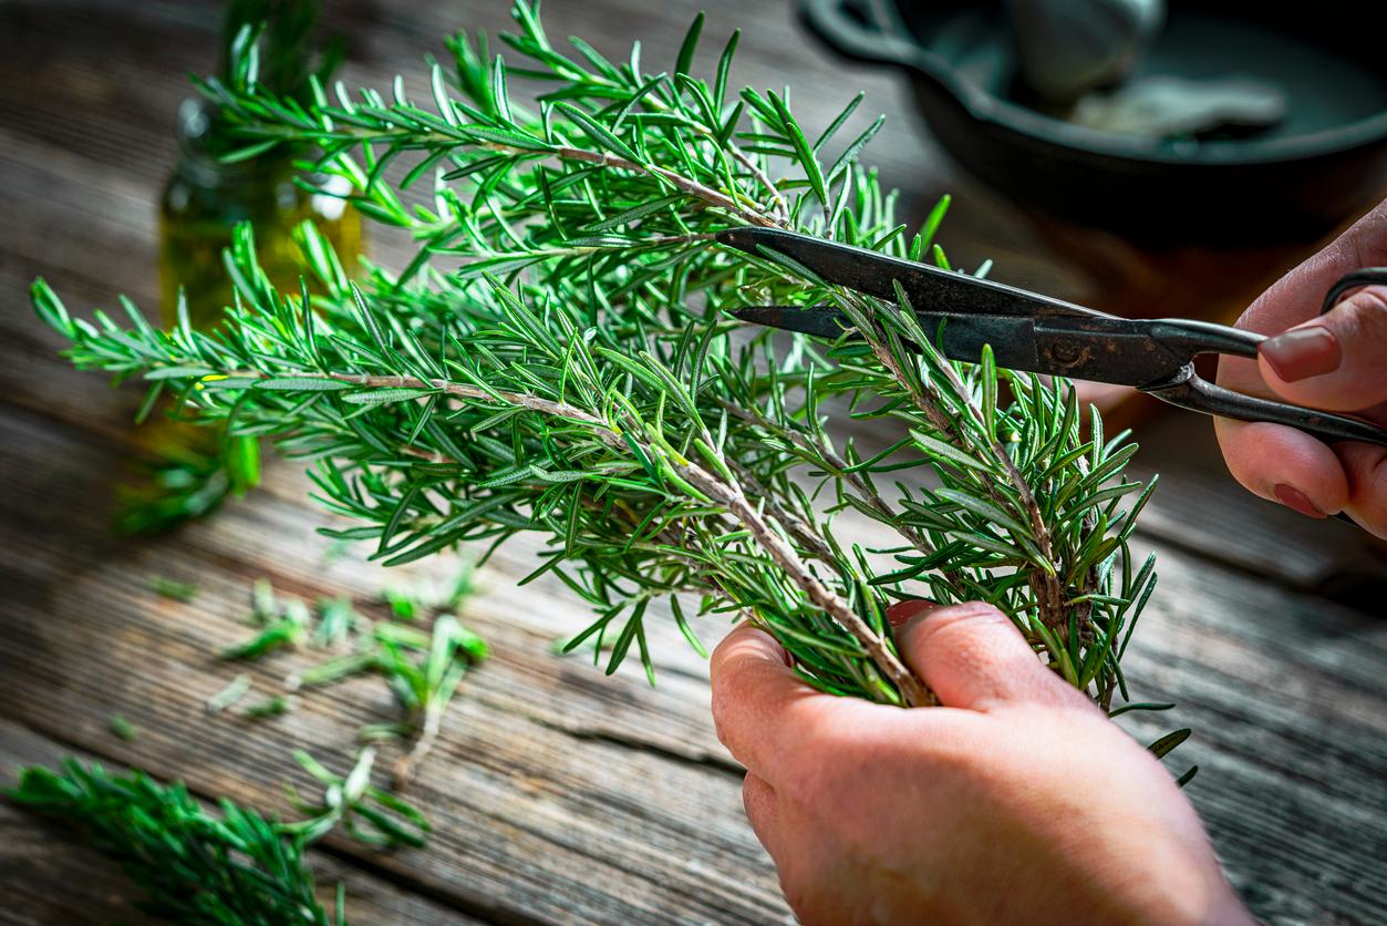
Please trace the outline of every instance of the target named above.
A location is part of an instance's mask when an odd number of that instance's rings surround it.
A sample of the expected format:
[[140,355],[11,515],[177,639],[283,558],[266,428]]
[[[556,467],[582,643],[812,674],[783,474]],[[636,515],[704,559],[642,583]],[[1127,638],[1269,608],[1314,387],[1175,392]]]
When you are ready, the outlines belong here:
[[[791,228],[947,268],[933,240],[947,201],[910,233],[860,164],[882,119],[846,136],[859,96],[810,135],[788,89],[734,92],[735,32],[695,75],[702,17],[669,69],[639,44],[624,61],[560,47],[528,0],[515,19],[508,60],[451,37],[423,99],[401,79],[276,97],[252,47],[236,79],[203,82],[241,154],[316,146],[305,167],[412,235],[399,272],[352,283],[305,226],[325,294],[276,292],[243,229],[226,261],[237,304],[215,332],[186,315],[158,330],[133,308],[87,322],[42,280],[37,312],[78,367],[311,461],[318,497],[359,522],[333,533],[370,539],[387,564],[541,532],[533,576],[592,604],[573,646],[605,641],[609,669],[634,651],[653,673],[645,628],[667,600],[695,647],[692,615],[735,614],[825,691],[928,704],[885,607],[981,598],[1100,704],[1125,697],[1119,659],[1155,582],[1129,547],[1151,491],[1123,476],[1135,446],[1096,414],[1085,433],[1062,380],[943,358],[908,305],[712,240]],[[510,94],[522,78],[542,82],[533,106]],[[861,340],[784,340],[728,315],[821,303]],[[895,436],[861,451],[829,428],[845,412]],[[847,510],[882,548],[839,540]]]

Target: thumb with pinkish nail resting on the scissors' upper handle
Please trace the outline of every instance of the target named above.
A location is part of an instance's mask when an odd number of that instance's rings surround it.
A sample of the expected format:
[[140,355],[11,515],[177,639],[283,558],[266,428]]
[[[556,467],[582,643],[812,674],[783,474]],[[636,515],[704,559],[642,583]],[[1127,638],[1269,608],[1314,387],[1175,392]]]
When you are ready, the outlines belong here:
[[1387,401],[1387,286],[1365,286],[1262,342],[1258,368],[1279,396],[1301,405],[1361,411]]

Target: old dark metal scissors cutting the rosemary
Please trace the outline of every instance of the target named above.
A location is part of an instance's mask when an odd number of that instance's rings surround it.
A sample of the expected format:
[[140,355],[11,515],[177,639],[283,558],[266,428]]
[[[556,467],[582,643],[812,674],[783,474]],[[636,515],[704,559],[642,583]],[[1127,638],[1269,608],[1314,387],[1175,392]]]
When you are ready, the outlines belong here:
[[[1121,318],[1015,286],[782,229],[732,228],[718,232],[717,240],[755,257],[767,251],[782,254],[828,283],[892,303],[897,301],[899,283],[921,329],[939,332],[938,348],[950,360],[978,362],[983,344],[990,344],[999,367],[1133,386],[1172,405],[1287,425],[1326,443],[1359,440],[1387,447],[1387,429],[1361,418],[1236,393],[1194,372],[1198,354],[1255,358],[1258,344],[1266,340],[1264,335],[1186,318]],[[1326,294],[1320,312],[1369,283],[1387,283],[1387,267],[1365,268],[1340,279]],[[841,310],[827,305],[755,305],[732,315],[834,340],[852,328]]]

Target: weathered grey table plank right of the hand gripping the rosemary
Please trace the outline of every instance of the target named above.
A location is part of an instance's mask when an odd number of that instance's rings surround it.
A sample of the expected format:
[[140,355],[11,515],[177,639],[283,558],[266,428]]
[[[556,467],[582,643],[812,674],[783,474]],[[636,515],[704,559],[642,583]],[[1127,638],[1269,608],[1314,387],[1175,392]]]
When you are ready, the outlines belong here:
[[[1176,701],[1137,739],[1196,732],[1190,797],[1234,886],[1269,922],[1377,922],[1387,873],[1381,616],[1161,550],[1133,637],[1133,694]],[[1140,726],[1137,726],[1140,723]]]

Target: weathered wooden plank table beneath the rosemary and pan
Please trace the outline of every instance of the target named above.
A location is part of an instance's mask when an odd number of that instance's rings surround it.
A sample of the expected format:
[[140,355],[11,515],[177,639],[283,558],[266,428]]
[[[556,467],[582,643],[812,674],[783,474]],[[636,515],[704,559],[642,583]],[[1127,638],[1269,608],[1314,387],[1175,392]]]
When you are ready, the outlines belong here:
[[[505,24],[502,0],[330,3],[354,39],[348,79],[388,86],[447,29]],[[552,35],[617,51],[645,42],[673,61],[684,24],[710,7],[714,44],[745,29],[734,82],[792,83],[810,125],[852,87],[892,117],[877,144],[917,218],[956,193],[943,242],[956,261],[997,260],[999,279],[1133,312],[1226,315],[1313,243],[1277,251],[1140,253],[1097,232],[1025,217],[945,162],[889,76],[831,61],[785,4],[592,0],[546,4]],[[212,61],[215,7],[119,0],[0,4],[0,761],[62,754],[182,777],[201,795],[283,809],[290,750],[341,768],[355,730],[390,719],[390,696],[362,679],[305,697],[286,716],[208,716],[204,698],[243,666],[215,659],[240,639],[254,579],[313,598],[370,603],[387,582],[350,553],[291,465],[265,490],[158,541],[108,530],[111,486],[132,457],[130,392],[72,372],[26,307],[43,275],[74,308],[118,292],[153,307],[155,201],[173,153],[183,75]],[[713,53],[709,53],[709,58]],[[383,246],[384,262],[398,249]],[[1139,546],[1161,557],[1161,590],[1128,675],[1146,700],[1179,707],[1132,722],[1142,739],[1193,726],[1183,748],[1201,775],[1190,795],[1229,875],[1272,922],[1387,918],[1387,594],[1383,553],[1341,523],[1309,522],[1241,493],[1221,469],[1208,423],[1171,414],[1142,423],[1146,469],[1162,473]],[[513,584],[533,547],[483,573],[465,621],[495,657],[470,676],[412,795],[437,834],[426,850],[368,852],[331,839],[313,851],[326,883],[344,877],[352,922],[784,922],[770,859],[741,809],[741,771],[707,712],[707,669],[664,628],[659,687],[606,679],[551,643],[583,626],[556,582]],[[424,571],[447,572],[448,562]],[[187,604],[155,594],[198,583]],[[395,579],[398,580],[398,578]],[[363,604],[368,609],[370,604]],[[716,632],[710,632],[716,636]],[[272,690],[308,657],[255,666]],[[139,730],[125,741],[112,714]],[[8,772],[6,772],[8,773]],[[1004,847],[999,847],[1004,851]],[[0,922],[129,918],[130,889],[64,830],[0,804]]]

